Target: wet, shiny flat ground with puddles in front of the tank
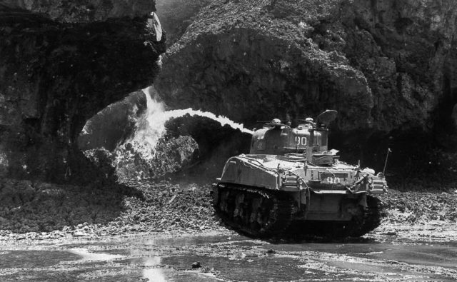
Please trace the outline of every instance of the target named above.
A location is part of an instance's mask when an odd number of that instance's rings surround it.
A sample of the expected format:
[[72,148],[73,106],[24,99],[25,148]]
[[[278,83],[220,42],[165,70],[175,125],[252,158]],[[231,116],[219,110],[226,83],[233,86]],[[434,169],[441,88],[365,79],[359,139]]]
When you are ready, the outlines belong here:
[[456,280],[456,241],[394,236],[331,243],[120,236],[0,245],[0,281]]

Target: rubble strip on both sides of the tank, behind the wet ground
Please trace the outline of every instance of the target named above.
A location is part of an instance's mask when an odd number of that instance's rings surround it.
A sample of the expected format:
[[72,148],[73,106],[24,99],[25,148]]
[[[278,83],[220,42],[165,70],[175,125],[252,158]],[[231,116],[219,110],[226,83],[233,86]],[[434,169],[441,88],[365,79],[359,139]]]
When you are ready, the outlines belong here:
[[[381,199],[387,217],[368,237],[418,232],[438,238],[442,231],[456,226],[457,198],[453,193],[391,189]],[[426,230],[432,223],[435,231]],[[423,231],[419,232],[421,228]],[[3,241],[202,232],[233,232],[221,226],[214,216],[210,183],[131,180],[123,186],[101,189],[0,181]]]

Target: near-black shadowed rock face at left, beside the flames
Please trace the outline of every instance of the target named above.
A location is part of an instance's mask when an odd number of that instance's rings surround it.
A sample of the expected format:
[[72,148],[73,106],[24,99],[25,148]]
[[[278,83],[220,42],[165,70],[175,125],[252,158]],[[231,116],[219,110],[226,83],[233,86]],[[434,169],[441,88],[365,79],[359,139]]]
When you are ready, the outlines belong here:
[[[26,8],[39,11],[34,5]],[[164,41],[145,46],[146,18],[128,13],[64,24],[0,8],[0,177],[90,179],[96,172],[76,145],[79,132],[98,111],[151,84]]]

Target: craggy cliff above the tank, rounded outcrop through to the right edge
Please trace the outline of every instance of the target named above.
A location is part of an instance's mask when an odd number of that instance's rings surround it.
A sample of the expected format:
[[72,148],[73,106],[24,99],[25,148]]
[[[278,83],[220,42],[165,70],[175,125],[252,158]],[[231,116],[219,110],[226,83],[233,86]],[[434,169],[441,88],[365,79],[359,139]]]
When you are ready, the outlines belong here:
[[456,5],[213,1],[171,48],[156,89],[171,107],[248,125],[327,108],[339,131],[430,132],[457,102]]

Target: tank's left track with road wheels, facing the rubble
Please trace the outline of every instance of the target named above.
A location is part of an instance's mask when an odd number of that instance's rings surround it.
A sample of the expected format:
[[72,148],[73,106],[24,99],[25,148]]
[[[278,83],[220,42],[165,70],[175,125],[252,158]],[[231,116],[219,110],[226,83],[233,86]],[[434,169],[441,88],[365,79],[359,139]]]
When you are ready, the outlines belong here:
[[218,216],[236,231],[266,238],[285,231],[296,207],[287,195],[233,184],[217,184],[214,208]]

